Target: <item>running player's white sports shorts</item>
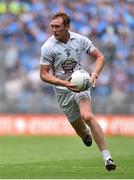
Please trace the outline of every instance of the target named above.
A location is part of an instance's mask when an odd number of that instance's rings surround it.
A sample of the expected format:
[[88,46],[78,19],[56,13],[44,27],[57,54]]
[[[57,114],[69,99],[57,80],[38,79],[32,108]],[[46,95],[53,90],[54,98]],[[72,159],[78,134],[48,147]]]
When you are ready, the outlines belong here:
[[56,92],[56,97],[58,100],[58,104],[67,116],[69,122],[72,123],[80,118],[80,111],[78,106],[80,99],[91,100],[91,92],[90,90],[80,93],[75,93],[73,91]]

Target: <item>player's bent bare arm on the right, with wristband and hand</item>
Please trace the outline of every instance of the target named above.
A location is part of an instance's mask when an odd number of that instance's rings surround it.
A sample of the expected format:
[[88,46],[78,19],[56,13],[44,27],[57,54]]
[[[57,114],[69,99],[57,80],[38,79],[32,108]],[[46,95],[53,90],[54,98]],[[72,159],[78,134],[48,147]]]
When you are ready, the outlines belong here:
[[95,68],[91,73],[91,81],[93,86],[95,87],[97,78],[104,67],[105,58],[104,55],[97,48],[95,48],[90,55],[93,57],[93,59],[96,60]]

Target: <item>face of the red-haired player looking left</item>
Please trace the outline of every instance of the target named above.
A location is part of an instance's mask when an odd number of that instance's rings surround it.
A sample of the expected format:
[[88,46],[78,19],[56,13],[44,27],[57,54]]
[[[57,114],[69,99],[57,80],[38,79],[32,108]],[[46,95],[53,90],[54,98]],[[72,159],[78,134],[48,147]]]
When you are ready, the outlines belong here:
[[61,17],[57,17],[51,21],[51,28],[54,34],[54,37],[59,41],[66,41],[68,35],[69,26],[65,26],[63,23],[63,19]]

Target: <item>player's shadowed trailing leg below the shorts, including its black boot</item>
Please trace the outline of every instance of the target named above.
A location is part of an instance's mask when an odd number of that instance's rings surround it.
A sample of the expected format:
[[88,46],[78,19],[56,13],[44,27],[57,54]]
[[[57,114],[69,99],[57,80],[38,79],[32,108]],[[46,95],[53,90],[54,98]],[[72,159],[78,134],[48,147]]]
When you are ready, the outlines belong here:
[[85,124],[85,122],[78,118],[74,122],[71,122],[76,133],[81,137],[82,141],[86,146],[92,145],[92,136],[89,127]]

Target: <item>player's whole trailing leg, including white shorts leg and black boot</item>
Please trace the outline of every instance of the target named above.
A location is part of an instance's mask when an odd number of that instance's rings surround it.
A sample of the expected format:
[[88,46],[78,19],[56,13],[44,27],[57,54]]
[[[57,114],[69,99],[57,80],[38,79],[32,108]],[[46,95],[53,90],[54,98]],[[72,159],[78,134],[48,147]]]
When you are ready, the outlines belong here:
[[73,126],[76,133],[81,137],[86,146],[91,146],[92,137],[90,129],[86,123],[80,118],[78,104],[74,101],[77,93],[57,93],[57,100],[60,107],[63,109],[68,121]]

